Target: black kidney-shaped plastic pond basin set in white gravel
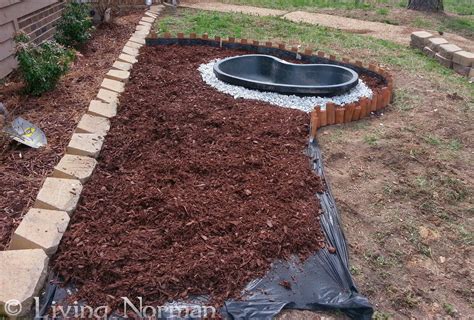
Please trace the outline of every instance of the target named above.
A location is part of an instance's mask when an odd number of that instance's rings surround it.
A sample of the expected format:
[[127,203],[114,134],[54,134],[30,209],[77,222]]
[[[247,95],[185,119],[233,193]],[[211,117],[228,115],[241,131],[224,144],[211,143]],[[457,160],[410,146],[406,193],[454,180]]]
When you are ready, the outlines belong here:
[[229,57],[214,64],[224,82],[281,94],[334,96],[354,88],[359,75],[333,64],[295,64],[264,54]]

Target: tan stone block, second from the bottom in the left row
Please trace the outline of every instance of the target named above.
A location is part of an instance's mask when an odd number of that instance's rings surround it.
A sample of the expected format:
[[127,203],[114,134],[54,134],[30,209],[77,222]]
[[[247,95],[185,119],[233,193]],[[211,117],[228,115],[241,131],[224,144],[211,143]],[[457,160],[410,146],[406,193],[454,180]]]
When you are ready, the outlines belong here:
[[13,233],[9,250],[43,249],[52,256],[69,224],[65,211],[30,209]]

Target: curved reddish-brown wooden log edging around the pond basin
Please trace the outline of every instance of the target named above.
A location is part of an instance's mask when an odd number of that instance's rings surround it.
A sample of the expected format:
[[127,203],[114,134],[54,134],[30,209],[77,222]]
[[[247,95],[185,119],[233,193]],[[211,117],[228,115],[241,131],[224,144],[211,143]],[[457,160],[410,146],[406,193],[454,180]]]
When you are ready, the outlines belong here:
[[233,50],[244,50],[256,52],[259,54],[268,54],[283,59],[296,59],[305,63],[330,63],[343,66],[356,71],[358,74],[365,74],[369,77],[376,78],[382,83],[382,88],[373,91],[372,97],[363,97],[359,101],[340,106],[334,103],[328,103],[326,110],[321,110],[321,106],[315,106],[310,115],[310,139],[316,138],[317,129],[334,125],[358,121],[366,117],[370,117],[372,113],[376,113],[387,107],[393,98],[393,77],[384,68],[370,63],[364,66],[362,61],[352,61],[347,57],[338,60],[334,55],[328,55],[323,51],[313,51],[310,48],[301,49],[301,46],[288,47],[285,43],[273,43],[271,41],[259,42],[251,39],[236,39],[229,37],[223,39],[216,36],[210,39],[208,34],[198,36],[195,33],[185,35],[180,32],[176,37],[169,32],[158,37],[156,33],[152,33],[151,37],[146,38],[147,46],[159,45],[182,45],[182,46],[210,46],[214,48],[225,48]]

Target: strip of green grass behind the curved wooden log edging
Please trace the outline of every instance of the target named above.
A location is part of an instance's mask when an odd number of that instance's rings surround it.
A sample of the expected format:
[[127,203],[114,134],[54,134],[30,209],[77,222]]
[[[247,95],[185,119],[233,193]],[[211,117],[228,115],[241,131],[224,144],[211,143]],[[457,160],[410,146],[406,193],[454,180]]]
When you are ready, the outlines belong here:
[[[376,60],[391,68],[410,73],[426,73],[433,78],[439,90],[456,90],[458,94],[473,97],[467,101],[474,105],[474,87],[453,70],[441,66],[435,59],[427,58],[421,51],[368,36],[345,33],[340,30],[294,23],[278,17],[257,17],[237,13],[183,9],[180,15],[166,16],[157,22],[158,33],[178,32],[208,33],[209,37],[237,37],[255,40],[289,42],[296,40],[303,46],[341,56],[363,52],[365,62]],[[407,101],[408,102],[408,101]],[[410,101],[411,102],[411,101]],[[473,107],[474,108],[474,107]]]

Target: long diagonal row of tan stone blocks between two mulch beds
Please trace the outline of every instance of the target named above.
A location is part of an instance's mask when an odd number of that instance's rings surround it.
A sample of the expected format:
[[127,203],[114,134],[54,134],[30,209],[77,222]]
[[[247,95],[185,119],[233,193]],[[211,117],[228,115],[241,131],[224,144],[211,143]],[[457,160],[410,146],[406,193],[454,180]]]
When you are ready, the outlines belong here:
[[95,158],[110,128],[109,119],[117,114],[120,93],[161,10],[162,6],[151,6],[143,15],[79,121],[63,158],[45,179],[8,249],[0,252],[0,315],[28,314],[34,297],[43,288],[49,257],[56,252],[74,214],[83,183],[93,174]]

